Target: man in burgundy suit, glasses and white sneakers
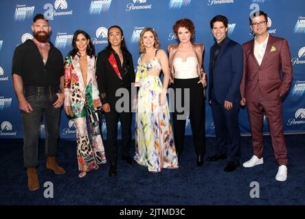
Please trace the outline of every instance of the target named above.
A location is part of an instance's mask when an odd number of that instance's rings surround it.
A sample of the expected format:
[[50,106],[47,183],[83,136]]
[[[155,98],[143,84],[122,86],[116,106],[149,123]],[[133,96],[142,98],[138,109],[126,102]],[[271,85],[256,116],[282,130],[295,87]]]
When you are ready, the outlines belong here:
[[293,75],[289,45],[284,38],[271,36],[267,32],[268,18],[264,12],[253,12],[249,21],[255,38],[242,45],[245,53],[240,104],[247,103],[254,155],[242,166],[250,168],[263,163],[262,125],[266,114],[275,160],[279,165],[275,179],[285,181],[287,150],[283,133],[282,96],[289,90]]

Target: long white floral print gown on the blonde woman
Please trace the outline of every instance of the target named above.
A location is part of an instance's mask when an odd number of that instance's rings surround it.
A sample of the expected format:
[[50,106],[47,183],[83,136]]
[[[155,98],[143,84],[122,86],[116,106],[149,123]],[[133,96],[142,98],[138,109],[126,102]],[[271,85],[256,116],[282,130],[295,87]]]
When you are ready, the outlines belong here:
[[139,62],[135,76],[135,86],[139,86],[139,92],[134,159],[138,164],[148,166],[150,172],[178,168],[168,103],[159,103],[163,85],[158,76],[148,75],[148,70],[160,68],[156,57],[145,64]]

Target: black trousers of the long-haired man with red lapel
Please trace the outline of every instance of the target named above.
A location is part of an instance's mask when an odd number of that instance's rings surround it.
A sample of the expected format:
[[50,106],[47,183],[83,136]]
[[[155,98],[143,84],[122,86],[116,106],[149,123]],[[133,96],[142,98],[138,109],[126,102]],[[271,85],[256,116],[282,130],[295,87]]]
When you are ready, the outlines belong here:
[[131,120],[132,112],[118,113],[111,109],[111,112],[105,113],[107,144],[105,147],[107,161],[117,162],[117,123],[120,120],[122,129],[122,155],[129,153],[131,148]]

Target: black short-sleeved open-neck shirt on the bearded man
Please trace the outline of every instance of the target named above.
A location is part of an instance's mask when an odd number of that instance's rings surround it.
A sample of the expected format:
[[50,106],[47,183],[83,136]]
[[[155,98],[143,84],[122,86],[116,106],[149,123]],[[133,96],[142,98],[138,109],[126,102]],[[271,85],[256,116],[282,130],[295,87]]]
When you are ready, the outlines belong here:
[[47,64],[33,40],[27,40],[16,47],[12,59],[12,75],[22,77],[23,86],[59,86],[64,75],[63,55],[49,42]]

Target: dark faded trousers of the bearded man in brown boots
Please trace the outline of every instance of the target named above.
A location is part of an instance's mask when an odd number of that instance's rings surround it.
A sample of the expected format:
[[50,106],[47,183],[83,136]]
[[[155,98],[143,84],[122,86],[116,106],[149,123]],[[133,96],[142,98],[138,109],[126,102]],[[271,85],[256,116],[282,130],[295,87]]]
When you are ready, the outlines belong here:
[[25,168],[38,166],[38,138],[41,117],[45,122],[45,156],[57,154],[60,108],[54,108],[57,88],[25,86],[25,99],[32,106],[30,113],[22,112],[23,159]]

